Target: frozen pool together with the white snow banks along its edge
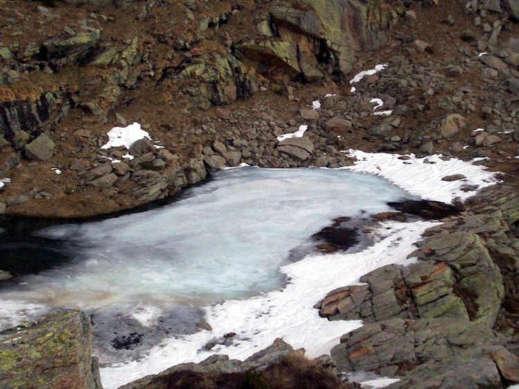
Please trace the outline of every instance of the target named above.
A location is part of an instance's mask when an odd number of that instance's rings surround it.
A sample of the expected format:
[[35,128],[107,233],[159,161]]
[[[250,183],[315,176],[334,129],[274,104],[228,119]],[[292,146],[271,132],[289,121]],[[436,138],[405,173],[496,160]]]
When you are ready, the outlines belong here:
[[[68,259],[2,283],[0,325],[48,307],[91,312],[108,388],[215,352],[243,359],[276,337],[311,356],[328,352],[340,334],[361,323],[325,321],[313,304],[376,267],[409,263],[412,243],[433,223],[388,222],[372,247],[353,254],[312,252],[311,236],[340,216],[388,211],[386,202],[410,193],[450,202],[468,196],[463,184],[494,181],[491,173],[457,160],[424,164],[359,155],[348,170],[221,171],[160,209],[38,231],[35,239],[54,242],[56,253]],[[379,173],[408,191],[352,170]],[[464,173],[467,180],[442,182],[448,173]],[[212,330],[200,331],[198,321]],[[237,336],[221,343],[228,332]]]

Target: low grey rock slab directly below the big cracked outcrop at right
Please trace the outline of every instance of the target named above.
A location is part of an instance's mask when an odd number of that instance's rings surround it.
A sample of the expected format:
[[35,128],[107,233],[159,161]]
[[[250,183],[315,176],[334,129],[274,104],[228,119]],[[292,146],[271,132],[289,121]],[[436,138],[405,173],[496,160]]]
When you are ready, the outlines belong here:
[[390,319],[343,335],[331,356],[345,371],[393,366],[396,374],[406,374],[419,365],[460,359],[467,348],[493,340],[486,325],[462,319]]

